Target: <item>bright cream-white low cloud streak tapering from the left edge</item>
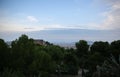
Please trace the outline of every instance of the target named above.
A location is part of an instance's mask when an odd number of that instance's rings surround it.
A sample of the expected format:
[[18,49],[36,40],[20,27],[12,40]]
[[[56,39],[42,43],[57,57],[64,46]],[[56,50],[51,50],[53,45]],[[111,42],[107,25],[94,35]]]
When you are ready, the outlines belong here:
[[0,25],[0,32],[29,32],[29,31],[40,31],[40,30],[44,30],[43,27],[39,27],[39,26],[34,26],[34,27],[30,27],[27,25],[23,25],[23,24],[4,24],[4,25]]

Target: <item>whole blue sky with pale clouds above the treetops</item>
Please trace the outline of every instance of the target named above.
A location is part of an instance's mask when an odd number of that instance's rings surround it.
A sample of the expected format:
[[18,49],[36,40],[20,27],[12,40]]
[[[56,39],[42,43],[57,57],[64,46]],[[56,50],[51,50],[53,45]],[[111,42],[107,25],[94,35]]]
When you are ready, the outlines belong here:
[[120,0],[0,0],[0,38],[120,39]]

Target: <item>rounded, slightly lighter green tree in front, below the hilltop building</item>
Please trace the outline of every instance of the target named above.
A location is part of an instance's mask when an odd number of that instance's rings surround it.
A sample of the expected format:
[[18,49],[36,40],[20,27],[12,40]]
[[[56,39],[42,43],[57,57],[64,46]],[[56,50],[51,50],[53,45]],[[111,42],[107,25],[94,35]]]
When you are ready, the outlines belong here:
[[40,75],[40,77],[49,77],[55,70],[55,64],[51,59],[51,56],[45,51],[35,50],[34,59],[28,66],[29,74]]

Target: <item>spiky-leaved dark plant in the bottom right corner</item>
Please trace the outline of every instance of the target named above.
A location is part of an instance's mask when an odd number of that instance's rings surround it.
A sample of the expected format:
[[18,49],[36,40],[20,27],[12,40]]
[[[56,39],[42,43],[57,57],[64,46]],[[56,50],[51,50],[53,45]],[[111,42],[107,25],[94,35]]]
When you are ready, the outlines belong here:
[[111,56],[107,60],[104,61],[102,66],[100,67],[100,75],[101,77],[120,77],[120,56],[119,62],[116,61],[114,56]]

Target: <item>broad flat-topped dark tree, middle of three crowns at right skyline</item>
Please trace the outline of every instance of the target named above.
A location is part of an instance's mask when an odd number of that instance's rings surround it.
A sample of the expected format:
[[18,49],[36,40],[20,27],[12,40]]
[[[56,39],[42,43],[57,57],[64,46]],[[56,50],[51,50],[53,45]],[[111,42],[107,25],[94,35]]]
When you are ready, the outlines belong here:
[[97,70],[96,67],[102,65],[109,55],[108,42],[96,41],[91,45],[90,53],[85,63],[91,75]]

